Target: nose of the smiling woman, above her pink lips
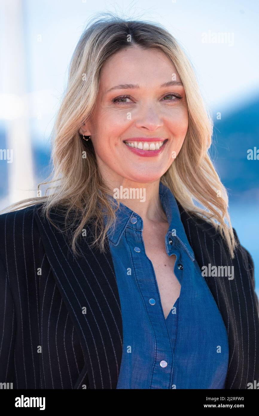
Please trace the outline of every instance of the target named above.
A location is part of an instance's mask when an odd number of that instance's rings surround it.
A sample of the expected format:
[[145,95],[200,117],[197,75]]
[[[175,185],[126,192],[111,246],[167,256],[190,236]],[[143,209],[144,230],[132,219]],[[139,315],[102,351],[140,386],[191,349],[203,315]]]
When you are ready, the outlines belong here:
[[152,132],[163,126],[163,119],[159,109],[155,105],[148,104],[141,106],[138,110],[135,124],[138,128],[144,128]]

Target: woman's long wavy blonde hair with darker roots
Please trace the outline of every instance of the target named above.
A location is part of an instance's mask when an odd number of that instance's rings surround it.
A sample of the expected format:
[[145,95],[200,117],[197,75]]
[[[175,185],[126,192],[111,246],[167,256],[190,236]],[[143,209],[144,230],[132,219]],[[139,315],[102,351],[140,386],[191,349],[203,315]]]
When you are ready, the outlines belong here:
[[[128,42],[131,35],[131,42]],[[227,243],[234,258],[236,240],[228,213],[227,191],[210,160],[212,118],[206,111],[195,72],[175,38],[159,24],[126,20],[105,13],[90,21],[82,33],[69,65],[67,89],[52,131],[52,191],[44,196],[27,198],[12,204],[11,210],[42,203],[42,212],[49,216],[53,207],[65,213],[65,228],[72,231],[72,250],[87,223],[95,226],[93,245],[105,251],[106,233],[114,227],[120,202],[111,204],[113,193],[103,183],[91,141],[82,140],[79,128],[91,119],[99,89],[102,66],[111,55],[134,45],[157,48],[174,64],[185,88],[189,125],[183,146],[160,181],[168,186],[175,198],[191,215],[205,218]],[[82,152],[86,151],[86,158]],[[199,208],[200,203],[203,208]],[[108,220],[104,222],[104,212]],[[228,224],[226,223],[226,220]]]

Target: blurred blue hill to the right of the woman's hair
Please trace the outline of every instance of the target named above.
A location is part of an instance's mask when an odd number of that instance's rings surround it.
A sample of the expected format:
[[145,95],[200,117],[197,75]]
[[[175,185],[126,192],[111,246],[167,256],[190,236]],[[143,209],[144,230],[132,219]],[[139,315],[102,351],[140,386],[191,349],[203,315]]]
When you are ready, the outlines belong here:
[[259,160],[247,159],[254,147],[259,149],[259,97],[214,120],[210,155],[233,202],[259,202]]

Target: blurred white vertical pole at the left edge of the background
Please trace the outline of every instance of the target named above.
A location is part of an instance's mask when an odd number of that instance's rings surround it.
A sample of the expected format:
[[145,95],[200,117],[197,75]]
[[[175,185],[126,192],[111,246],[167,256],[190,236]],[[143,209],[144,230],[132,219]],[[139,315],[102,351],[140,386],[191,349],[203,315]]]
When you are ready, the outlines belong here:
[[8,203],[13,203],[36,196],[37,186],[32,163],[22,0],[4,0],[2,6],[1,31],[5,35],[1,58],[2,97],[5,97],[6,108],[4,102],[1,107],[6,119],[7,151],[13,155],[12,163],[7,163]]

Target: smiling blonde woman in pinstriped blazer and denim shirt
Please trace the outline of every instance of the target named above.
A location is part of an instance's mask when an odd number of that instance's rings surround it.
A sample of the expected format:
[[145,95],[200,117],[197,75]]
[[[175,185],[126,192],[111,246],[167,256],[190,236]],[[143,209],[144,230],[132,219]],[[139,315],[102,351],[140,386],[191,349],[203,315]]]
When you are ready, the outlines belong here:
[[53,136],[52,191],[0,216],[1,380],[247,389],[259,379],[254,264],[173,36],[113,15],[89,25]]

